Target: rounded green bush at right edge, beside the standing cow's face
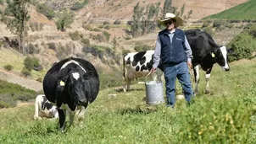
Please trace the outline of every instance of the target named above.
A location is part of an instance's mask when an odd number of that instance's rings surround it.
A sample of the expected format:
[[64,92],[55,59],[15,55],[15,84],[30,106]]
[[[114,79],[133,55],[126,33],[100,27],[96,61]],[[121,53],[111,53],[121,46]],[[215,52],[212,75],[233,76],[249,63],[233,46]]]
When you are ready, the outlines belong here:
[[250,59],[256,50],[256,40],[248,32],[243,32],[234,37],[229,43],[229,46],[234,49],[229,56],[230,61],[237,61],[243,58]]

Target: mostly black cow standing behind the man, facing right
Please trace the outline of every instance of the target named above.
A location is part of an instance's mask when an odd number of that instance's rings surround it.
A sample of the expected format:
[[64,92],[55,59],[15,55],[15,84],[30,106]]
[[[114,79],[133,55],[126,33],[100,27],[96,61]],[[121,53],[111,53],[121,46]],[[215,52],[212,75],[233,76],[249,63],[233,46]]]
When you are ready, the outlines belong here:
[[209,93],[209,78],[214,63],[218,63],[225,71],[230,70],[227,57],[228,51],[225,46],[217,45],[211,35],[200,29],[186,30],[185,35],[192,48],[192,65],[196,83],[194,93],[198,93],[199,65],[206,72],[205,93]]

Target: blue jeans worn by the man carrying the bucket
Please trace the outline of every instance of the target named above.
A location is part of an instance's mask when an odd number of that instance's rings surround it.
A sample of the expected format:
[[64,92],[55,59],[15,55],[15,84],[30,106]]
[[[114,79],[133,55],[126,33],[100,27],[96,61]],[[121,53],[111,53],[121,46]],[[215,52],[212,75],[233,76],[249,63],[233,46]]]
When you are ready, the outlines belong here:
[[166,87],[167,106],[175,105],[175,81],[176,77],[181,83],[186,102],[189,103],[193,96],[190,74],[186,62],[173,65],[164,65],[164,78]]

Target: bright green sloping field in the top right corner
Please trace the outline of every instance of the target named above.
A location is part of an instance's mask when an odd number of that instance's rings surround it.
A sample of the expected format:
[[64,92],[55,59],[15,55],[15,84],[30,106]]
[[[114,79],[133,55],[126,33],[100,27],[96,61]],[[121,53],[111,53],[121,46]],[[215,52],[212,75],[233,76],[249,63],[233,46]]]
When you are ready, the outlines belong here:
[[250,0],[234,8],[227,9],[223,12],[216,13],[204,19],[256,19],[256,1]]

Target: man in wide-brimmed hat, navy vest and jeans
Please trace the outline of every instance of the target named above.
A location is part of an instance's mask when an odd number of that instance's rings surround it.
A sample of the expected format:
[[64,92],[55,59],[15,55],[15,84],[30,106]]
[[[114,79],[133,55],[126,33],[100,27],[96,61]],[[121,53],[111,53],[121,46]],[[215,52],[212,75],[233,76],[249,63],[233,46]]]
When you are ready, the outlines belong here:
[[177,29],[183,23],[180,17],[173,13],[166,13],[163,20],[159,20],[166,29],[159,32],[153,56],[152,72],[156,71],[159,61],[164,63],[164,78],[166,87],[167,106],[175,106],[175,80],[181,83],[186,102],[189,104],[192,96],[192,84],[188,67],[192,67],[192,50],[186,40],[186,35]]

